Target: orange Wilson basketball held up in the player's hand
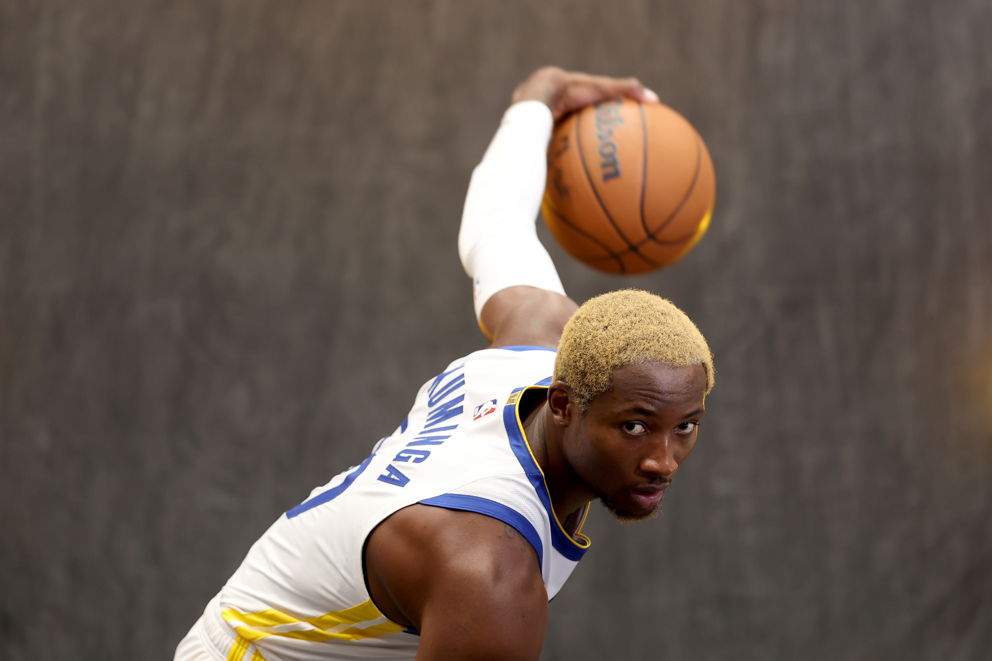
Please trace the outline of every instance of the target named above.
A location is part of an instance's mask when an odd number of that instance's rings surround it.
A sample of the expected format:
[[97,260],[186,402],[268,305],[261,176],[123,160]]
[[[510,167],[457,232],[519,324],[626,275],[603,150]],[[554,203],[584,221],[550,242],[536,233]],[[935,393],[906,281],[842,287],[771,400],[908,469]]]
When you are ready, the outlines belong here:
[[713,163],[699,134],[660,103],[587,106],[555,127],[541,211],[558,243],[610,274],[682,259],[709,226]]

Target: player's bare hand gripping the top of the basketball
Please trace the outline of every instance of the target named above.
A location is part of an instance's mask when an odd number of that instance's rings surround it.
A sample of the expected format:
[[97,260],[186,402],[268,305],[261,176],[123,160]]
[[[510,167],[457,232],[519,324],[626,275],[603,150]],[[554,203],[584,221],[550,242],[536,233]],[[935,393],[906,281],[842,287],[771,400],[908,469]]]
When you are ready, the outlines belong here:
[[552,115],[558,121],[572,110],[624,96],[658,103],[658,94],[642,85],[637,78],[610,78],[565,71],[558,66],[544,66],[517,86],[513,92],[513,103],[541,101],[552,109]]

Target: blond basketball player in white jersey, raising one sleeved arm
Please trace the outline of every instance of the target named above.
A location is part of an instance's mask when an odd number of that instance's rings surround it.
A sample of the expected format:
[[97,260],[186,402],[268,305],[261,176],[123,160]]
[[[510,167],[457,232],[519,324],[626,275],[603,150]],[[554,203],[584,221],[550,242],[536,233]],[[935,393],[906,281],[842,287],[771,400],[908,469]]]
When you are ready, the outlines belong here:
[[553,121],[625,95],[657,102],[637,80],[558,68],[516,89],[458,237],[491,345],[269,528],[178,660],[537,660],[590,500],[621,520],[657,512],[695,443],[709,349],[644,291],[576,306],[534,225]]

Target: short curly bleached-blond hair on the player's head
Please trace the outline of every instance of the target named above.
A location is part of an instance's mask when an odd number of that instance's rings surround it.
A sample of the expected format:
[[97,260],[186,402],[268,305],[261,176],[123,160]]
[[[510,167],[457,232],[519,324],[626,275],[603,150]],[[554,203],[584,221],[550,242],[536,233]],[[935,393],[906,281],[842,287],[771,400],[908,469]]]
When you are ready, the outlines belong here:
[[575,393],[579,411],[613,387],[613,370],[624,365],[701,365],[706,392],[713,387],[713,357],[702,333],[670,300],[641,289],[620,289],[590,298],[561,332],[555,381]]

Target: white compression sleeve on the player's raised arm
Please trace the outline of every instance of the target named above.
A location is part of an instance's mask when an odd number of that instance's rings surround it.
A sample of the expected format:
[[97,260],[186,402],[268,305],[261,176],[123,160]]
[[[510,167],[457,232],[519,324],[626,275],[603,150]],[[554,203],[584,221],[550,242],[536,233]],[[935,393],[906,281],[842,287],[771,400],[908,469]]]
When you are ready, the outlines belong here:
[[548,176],[554,119],[541,101],[521,101],[503,115],[468,184],[458,256],[472,278],[475,318],[500,289],[528,284],[564,295],[535,227]]

